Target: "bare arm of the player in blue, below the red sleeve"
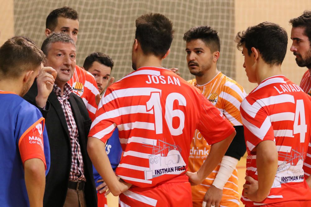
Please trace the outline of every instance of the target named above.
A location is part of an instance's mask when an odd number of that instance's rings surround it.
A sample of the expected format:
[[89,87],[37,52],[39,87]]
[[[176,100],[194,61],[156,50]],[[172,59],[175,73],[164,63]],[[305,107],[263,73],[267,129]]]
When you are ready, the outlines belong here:
[[45,167],[42,160],[33,158],[24,163],[25,183],[31,207],[43,206]]

